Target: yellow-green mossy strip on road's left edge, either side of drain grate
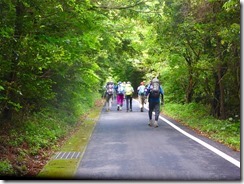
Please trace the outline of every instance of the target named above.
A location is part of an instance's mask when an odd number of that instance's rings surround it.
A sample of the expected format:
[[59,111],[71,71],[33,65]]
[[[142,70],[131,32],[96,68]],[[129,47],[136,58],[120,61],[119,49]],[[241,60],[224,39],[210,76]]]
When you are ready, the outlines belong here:
[[[68,152],[76,151],[83,153],[86,145],[93,132],[96,121],[101,112],[101,106],[92,109],[91,113],[86,117],[78,127],[76,132],[65,142],[59,151]],[[74,177],[80,159],[51,159],[47,165],[41,170],[37,178],[48,179],[71,179]]]

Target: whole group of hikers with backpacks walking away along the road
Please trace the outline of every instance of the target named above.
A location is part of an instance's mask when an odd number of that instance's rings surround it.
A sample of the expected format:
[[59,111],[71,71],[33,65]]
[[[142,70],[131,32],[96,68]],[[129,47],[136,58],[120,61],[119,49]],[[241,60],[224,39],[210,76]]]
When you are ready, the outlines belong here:
[[[119,81],[117,85],[113,82],[108,82],[105,86],[106,96],[106,110],[110,111],[112,107],[113,99],[117,101],[117,111],[122,111],[124,101],[126,101],[126,111],[132,111],[132,96],[134,94],[134,88],[131,82]],[[149,84],[145,85],[145,82],[141,82],[137,87],[138,101],[140,105],[140,111],[144,111],[144,105],[148,102],[148,116],[149,126],[158,127],[158,118],[160,114],[160,103],[164,103],[164,91],[157,77],[153,78]],[[155,119],[152,119],[152,113],[155,112]]]

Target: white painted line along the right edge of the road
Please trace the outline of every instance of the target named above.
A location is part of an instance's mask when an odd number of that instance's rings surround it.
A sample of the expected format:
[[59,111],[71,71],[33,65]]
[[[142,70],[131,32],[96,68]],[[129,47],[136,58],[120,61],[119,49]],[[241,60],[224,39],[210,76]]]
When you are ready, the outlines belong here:
[[[147,110],[149,110],[147,107],[145,107]],[[195,142],[201,144],[202,146],[204,146],[205,148],[209,149],[210,151],[216,153],[217,155],[221,156],[222,158],[224,158],[225,160],[229,161],[230,163],[234,164],[235,166],[240,168],[240,162],[234,158],[232,158],[231,156],[225,154],[224,152],[218,150],[217,148],[211,146],[210,144],[196,138],[195,136],[187,133],[186,131],[182,130],[181,128],[179,128],[178,126],[174,125],[172,122],[170,122],[169,120],[165,119],[162,116],[159,116],[159,118],[161,120],[163,120],[164,122],[166,122],[168,125],[170,125],[171,127],[173,127],[174,129],[176,129],[177,131],[179,131],[180,133],[182,133],[183,135],[189,137],[190,139],[194,140]]]

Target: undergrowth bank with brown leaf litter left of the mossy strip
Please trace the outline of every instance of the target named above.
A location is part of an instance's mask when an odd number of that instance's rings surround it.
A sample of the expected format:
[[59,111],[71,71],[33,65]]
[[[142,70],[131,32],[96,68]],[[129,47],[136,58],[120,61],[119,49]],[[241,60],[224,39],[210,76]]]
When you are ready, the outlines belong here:
[[36,176],[86,115],[77,120],[70,112],[45,109],[24,123],[1,124],[0,178]]

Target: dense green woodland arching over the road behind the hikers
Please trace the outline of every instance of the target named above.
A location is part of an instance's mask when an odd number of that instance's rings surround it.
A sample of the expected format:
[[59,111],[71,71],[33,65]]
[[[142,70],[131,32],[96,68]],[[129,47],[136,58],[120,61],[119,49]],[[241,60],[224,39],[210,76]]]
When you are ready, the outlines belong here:
[[108,79],[155,75],[165,105],[240,117],[237,0],[1,0],[0,17],[1,126],[79,117]]

